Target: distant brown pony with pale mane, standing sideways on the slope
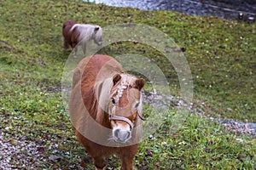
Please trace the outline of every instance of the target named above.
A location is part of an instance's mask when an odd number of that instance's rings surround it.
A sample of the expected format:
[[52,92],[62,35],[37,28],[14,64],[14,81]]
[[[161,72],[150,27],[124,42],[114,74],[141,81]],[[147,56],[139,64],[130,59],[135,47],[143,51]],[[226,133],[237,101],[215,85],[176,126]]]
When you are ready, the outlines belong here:
[[86,53],[86,46],[88,42],[93,40],[97,45],[102,45],[102,28],[101,26],[94,26],[89,24],[78,24],[75,20],[66,20],[62,26],[63,48],[68,46],[74,49],[74,58],[77,57],[78,48],[80,45],[83,53]]

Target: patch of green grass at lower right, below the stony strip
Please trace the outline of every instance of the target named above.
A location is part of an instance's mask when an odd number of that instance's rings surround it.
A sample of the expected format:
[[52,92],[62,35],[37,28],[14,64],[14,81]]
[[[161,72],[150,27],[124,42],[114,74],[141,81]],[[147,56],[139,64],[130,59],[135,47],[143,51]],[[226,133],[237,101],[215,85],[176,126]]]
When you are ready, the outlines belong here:
[[188,116],[175,133],[170,133],[171,123],[167,118],[155,139],[141,144],[138,167],[148,161],[150,169],[253,169],[255,145],[251,139],[245,138],[242,145],[233,134],[225,134],[217,124],[198,116]]

